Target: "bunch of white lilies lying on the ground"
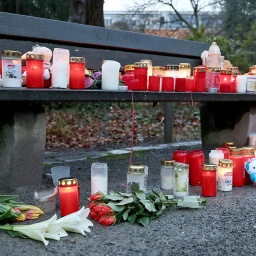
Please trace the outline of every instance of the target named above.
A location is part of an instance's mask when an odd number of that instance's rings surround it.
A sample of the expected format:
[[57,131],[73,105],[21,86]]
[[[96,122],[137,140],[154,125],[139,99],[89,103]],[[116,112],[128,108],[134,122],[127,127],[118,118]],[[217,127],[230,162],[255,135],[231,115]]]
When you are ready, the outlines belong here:
[[13,237],[31,238],[48,245],[49,240],[60,240],[68,236],[67,232],[76,232],[85,235],[90,232],[89,226],[92,222],[87,219],[90,210],[82,207],[79,211],[71,213],[65,217],[57,219],[57,215],[52,218],[31,225],[2,225],[0,229],[8,231]]

